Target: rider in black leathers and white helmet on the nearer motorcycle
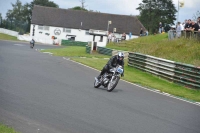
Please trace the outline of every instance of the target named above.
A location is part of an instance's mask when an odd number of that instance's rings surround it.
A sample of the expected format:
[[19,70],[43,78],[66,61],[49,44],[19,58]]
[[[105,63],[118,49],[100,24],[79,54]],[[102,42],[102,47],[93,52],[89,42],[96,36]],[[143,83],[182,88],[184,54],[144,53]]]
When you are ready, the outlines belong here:
[[[101,76],[105,73],[108,72],[110,69],[113,67],[116,67],[117,65],[121,65],[124,69],[124,53],[119,52],[117,55],[114,55],[110,58],[110,60],[107,62],[107,64],[103,67],[101,70],[100,75],[97,77],[98,80],[100,80]],[[124,76],[124,71],[121,74],[121,76]]]

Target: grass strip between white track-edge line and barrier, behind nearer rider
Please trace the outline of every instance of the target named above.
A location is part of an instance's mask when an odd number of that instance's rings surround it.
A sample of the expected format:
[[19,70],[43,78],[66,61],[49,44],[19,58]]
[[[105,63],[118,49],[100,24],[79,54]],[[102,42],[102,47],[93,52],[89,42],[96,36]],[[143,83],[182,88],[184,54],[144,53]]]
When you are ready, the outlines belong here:
[[[82,64],[91,66],[93,68],[96,68],[98,70],[101,70],[103,66],[106,64],[108,60],[104,59],[80,59],[80,58],[71,58],[74,61],[80,62]],[[127,62],[127,61],[126,61]],[[179,96],[182,98],[194,100],[200,102],[200,91],[199,90],[192,90],[185,88],[183,86],[174,84],[172,82],[169,82],[165,79],[159,78],[157,76],[151,75],[146,72],[142,72],[138,69],[132,68],[125,65],[125,73],[124,77],[122,79],[147,87],[147,88],[153,88],[158,89],[161,92],[169,93],[175,96]],[[97,76],[97,75],[96,75]]]

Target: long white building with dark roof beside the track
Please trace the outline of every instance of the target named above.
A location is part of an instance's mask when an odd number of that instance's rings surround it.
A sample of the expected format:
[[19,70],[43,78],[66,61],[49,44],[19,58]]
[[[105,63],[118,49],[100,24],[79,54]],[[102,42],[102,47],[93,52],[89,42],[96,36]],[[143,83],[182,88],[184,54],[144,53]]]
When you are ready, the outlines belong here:
[[97,46],[106,46],[108,32],[120,38],[126,33],[126,39],[139,36],[144,28],[134,16],[105,14],[89,11],[60,9],[35,5],[32,11],[30,36],[36,42],[52,44],[56,41],[74,40],[96,42]]

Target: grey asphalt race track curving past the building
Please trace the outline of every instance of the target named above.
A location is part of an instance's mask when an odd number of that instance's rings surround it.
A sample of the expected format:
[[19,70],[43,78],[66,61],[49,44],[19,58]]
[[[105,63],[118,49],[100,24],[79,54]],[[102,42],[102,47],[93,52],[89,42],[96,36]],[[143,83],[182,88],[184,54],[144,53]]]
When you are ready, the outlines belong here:
[[[0,41],[0,123],[22,133],[200,133],[200,106],[120,81],[93,88],[98,71]],[[133,77],[134,78],[134,77]]]

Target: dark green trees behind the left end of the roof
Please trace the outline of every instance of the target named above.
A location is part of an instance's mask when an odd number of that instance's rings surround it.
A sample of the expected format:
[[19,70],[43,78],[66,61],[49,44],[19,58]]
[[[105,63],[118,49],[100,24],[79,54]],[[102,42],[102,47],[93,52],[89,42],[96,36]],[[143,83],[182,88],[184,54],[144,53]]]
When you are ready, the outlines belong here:
[[[84,8],[85,1],[81,0],[80,2],[82,6],[76,6],[71,9],[87,11],[87,9]],[[32,10],[34,5],[59,8],[58,4],[49,0],[33,0],[32,2],[25,3],[24,5],[20,0],[16,0],[16,2],[11,3],[11,5],[12,9],[7,11],[4,19],[0,13],[0,27],[18,31],[20,34],[30,32]]]

